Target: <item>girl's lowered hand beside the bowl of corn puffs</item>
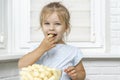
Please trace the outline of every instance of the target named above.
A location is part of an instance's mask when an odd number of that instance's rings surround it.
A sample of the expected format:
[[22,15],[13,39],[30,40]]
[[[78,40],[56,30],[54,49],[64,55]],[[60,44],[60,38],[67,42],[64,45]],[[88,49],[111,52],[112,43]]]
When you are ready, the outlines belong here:
[[74,66],[70,66],[64,70],[72,80],[77,79],[77,71]]

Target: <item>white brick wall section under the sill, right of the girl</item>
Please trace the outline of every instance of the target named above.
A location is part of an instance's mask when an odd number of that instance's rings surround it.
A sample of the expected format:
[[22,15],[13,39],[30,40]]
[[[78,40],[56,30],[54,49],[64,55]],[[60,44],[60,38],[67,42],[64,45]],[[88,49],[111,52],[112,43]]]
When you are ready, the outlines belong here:
[[120,80],[120,59],[85,59],[86,80]]

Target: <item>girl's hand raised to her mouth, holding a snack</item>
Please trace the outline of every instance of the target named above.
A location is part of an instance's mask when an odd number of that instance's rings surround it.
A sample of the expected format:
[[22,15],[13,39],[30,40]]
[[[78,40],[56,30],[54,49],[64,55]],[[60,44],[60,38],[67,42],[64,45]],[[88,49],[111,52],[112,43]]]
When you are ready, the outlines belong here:
[[53,47],[55,47],[55,41],[54,41],[54,37],[52,37],[52,36],[47,36],[47,37],[45,37],[44,39],[43,39],[43,41],[41,42],[41,44],[40,44],[40,48],[44,51],[44,52],[46,52],[46,51],[48,51],[49,49],[51,49],[51,48],[53,48]]

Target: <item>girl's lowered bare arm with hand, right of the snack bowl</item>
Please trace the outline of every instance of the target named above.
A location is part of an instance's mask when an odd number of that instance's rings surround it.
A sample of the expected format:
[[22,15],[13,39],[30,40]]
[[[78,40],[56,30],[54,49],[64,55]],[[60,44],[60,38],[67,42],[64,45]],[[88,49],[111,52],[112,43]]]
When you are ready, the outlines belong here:
[[82,61],[80,61],[75,67],[68,67],[65,69],[65,72],[71,77],[72,80],[84,80],[86,76]]

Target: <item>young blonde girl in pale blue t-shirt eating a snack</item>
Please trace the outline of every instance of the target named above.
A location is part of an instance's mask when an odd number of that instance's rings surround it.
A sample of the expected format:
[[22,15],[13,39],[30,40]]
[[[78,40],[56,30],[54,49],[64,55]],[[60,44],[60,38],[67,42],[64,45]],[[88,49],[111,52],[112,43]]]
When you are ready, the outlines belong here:
[[59,2],[43,7],[40,24],[45,38],[32,52],[19,60],[19,68],[42,64],[62,70],[61,80],[84,80],[85,70],[79,48],[65,44],[64,36],[70,31],[70,15]]

